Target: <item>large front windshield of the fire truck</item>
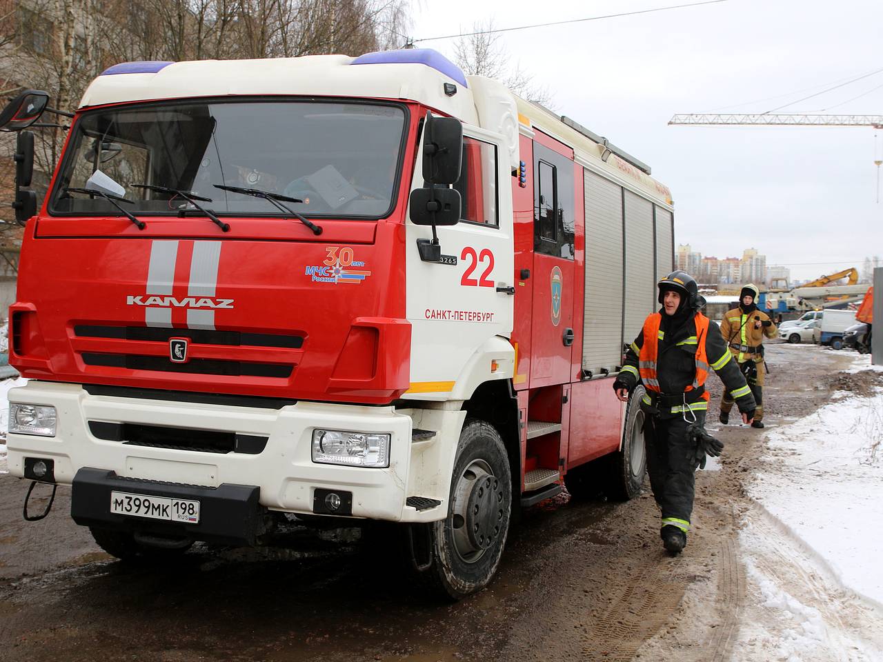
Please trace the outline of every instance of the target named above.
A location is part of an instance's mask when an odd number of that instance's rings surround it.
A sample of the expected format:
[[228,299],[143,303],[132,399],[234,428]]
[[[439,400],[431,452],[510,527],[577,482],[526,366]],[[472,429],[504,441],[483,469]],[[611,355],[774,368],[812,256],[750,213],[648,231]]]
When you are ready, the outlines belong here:
[[[157,102],[84,113],[73,129],[52,214],[120,214],[106,199],[73,196],[96,170],[118,184],[133,214],[170,214],[211,199],[215,214],[278,215],[268,200],[214,184],[303,200],[300,214],[381,218],[391,211],[404,147],[404,108],[357,102]],[[103,178],[102,178],[103,179]],[[104,180],[107,184],[107,180]],[[206,203],[208,205],[208,203]]]

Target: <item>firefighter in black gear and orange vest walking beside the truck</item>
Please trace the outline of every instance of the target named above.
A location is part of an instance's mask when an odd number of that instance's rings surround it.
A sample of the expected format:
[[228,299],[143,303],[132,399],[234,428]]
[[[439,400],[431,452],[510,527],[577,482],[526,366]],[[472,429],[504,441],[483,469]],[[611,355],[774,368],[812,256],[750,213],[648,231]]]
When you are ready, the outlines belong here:
[[641,409],[647,470],[662,515],[660,536],[668,552],[679,553],[690,530],[696,468],[705,466],[706,452],[720,455],[722,448],[720,442],[716,452],[709,448],[706,442],[712,438],[702,429],[709,366],[735,398],[745,423],[751,422],[755,405],[720,328],[699,312],[705,300],[696,281],[675,271],[658,287],[662,308],[645,320],[613,387],[623,402],[638,384],[645,387]]

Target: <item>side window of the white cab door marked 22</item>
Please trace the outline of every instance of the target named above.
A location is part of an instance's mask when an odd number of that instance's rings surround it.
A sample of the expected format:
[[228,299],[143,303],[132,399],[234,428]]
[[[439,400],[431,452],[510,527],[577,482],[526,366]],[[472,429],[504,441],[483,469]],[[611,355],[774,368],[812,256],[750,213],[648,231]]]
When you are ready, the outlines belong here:
[[496,146],[464,136],[460,178],[454,184],[460,192],[461,220],[499,225],[496,159]]

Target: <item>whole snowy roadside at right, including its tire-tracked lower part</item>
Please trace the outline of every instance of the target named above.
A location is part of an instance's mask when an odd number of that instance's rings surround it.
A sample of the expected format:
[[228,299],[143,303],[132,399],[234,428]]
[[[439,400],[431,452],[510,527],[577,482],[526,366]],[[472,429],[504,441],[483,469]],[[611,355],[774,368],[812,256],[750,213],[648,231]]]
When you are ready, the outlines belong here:
[[[847,372],[872,368],[854,355]],[[740,545],[739,660],[883,659],[883,388],[766,433]]]

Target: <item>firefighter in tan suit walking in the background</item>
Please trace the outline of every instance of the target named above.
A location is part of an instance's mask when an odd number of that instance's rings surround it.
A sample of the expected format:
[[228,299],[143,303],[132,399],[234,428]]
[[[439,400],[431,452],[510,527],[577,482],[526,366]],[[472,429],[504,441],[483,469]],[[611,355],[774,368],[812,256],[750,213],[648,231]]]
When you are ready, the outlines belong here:
[[[774,338],[776,327],[766,312],[758,310],[758,288],[753,284],[743,287],[739,293],[739,305],[727,311],[721,322],[721,335],[729,344],[729,350],[739,364],[739,369],[748,380],[751,394],[758,408],[754,412],[751,427],[763,427],[764,418],[764,336]],[[729,422],[729,410],[733,409],[733,398],[724,391],[721,398],[721,423]]]

